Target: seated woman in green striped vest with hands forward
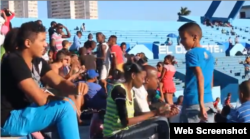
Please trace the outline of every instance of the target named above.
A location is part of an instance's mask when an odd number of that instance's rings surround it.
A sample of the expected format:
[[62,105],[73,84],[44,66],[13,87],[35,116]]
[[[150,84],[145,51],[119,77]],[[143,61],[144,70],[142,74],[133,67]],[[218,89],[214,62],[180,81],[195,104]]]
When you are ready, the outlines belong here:
[[[169,125],[165,117],[148,120],[156,115],[165,115],[167,109],[165,106],[161,107],[164,109],[163,111],[159,111],[161,108],[158,108],[140,116],[134,116],[134,93],[130,90],[132,90],[132,87],[139,88],[142,86],[145,77],[142,68],[138,64],[127,63],[124,65],[123,70],[125,71],[126,82],[115,84],[107,98],[107,111],[104,116],[104,137],[118,137],[120,139],[149,138],[158,133],[159,139],[168,139]],[[157,77],[157,74],[155,75]]]

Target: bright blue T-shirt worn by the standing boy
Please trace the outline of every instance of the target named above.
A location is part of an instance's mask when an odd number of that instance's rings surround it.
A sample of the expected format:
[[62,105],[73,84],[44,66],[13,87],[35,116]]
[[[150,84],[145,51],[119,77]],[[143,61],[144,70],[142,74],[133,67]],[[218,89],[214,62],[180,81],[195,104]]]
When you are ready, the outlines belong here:
[[202,47],[195,47],[186,53],[186,80],[183,104],[185,106],[199,104],[198,83],[192,68],[200,67],[204,77],[204,103],[213,102],[212,79],[214,58],[211,52]]

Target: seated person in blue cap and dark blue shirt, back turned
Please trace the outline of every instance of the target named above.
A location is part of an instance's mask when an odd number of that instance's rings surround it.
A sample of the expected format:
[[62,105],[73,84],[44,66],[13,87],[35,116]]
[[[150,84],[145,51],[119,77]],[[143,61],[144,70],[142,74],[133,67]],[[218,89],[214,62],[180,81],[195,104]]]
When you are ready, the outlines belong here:
[[95,83],[97,77],[99,76],[95,70],[90,69],[86,72],[87,81],[86,84],[89,87],[87,95],[85,95],[85,104],[86,107],[92,109],[105,109],[106,108],[106,98],[107,94],[99,84]]

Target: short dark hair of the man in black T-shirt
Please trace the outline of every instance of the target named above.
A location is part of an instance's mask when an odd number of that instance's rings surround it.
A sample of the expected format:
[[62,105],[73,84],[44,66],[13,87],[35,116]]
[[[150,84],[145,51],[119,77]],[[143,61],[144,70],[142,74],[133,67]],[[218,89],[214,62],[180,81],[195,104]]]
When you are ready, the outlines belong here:
[[37,24],[34,21],[23,23],[17,34],[18,49],[24,49],[26,47],[24,44],[26,39],[34,41],[38,33],[44,32],[46,32],[46,28],[41,24]]

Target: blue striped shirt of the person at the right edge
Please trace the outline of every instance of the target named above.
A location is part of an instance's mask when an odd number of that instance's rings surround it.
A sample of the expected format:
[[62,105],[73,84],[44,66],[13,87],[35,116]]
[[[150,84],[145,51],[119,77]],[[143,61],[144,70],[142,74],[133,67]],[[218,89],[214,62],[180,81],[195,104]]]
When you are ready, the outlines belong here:
[[230,112],[231,122],[250,123],[250,101],[247,101],[233,112]]

